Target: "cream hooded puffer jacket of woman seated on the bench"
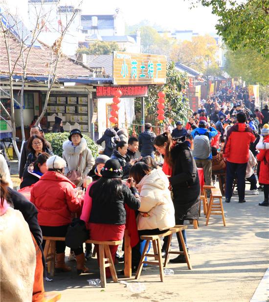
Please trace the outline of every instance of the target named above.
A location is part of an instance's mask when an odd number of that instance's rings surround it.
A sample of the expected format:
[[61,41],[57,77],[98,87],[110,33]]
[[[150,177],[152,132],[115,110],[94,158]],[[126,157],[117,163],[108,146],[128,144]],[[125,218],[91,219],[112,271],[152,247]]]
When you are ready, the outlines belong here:
[[[141,202],[136,218],[138,230],[162,231],[175,226],[175,209],[168,187],[168,178],[161,169],[154,169],[137,185]],[[149,216],[144,217],[144,213]]]

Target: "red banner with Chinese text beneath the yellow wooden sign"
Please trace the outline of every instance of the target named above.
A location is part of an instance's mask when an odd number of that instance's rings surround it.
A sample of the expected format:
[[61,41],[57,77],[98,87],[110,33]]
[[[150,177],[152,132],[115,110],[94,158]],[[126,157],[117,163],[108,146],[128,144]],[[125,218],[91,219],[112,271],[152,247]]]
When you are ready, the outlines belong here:
[[121,97],[140,97],[148,96],[148,86],[144,85],[127,85],[121,87],[96,87],[96,98],[114,97],[114,92],[120,90]]

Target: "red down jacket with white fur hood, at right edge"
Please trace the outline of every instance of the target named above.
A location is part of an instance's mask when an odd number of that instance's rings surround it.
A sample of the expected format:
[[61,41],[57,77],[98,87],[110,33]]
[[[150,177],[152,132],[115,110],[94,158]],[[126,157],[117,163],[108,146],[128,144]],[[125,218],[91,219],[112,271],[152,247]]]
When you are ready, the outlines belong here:
[[261,162],[259,184],[269,185],[269,136],[259,142],[256,148],[260,150],[257,154],[257,160]]

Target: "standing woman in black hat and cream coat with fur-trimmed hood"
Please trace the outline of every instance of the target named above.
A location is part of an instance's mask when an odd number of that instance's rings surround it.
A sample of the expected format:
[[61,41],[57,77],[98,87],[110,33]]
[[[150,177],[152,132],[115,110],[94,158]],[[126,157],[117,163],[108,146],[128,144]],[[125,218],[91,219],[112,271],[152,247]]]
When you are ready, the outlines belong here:
[[[86,177],[94,164],[94,158],[87,147],[87,141],[83,138],[79,129],[73,129],[68,139],[63,143],[63,159],[67,162],[64,175],[67,175],[69,171],[79,170],[82,177]],[[80,155],[81,161],[79,164]],[[83,181],[77,186],[82,184]]]

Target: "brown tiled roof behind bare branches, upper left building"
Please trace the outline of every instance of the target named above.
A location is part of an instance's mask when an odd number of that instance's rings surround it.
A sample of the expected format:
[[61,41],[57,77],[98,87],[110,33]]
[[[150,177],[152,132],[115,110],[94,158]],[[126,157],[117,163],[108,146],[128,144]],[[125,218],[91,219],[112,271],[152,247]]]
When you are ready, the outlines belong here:
[[[26,57],[27,51],[29,48],[25,49],[24,55]],[[17,39],[10,40],[10,54],[11,62],[17,59],[18,53],[20,51],[20,44]],[[48,75],[50,71],[50,62],[51,62],[51,50],[42,46],[42,48],[32,48],[28,65],[26,69],[26,75]],[[14,66],[14,65],[13,65]],[[67,57],[60,59],[57,67],[57,77],[61,76],[89,76],[92,70],[88,70],[78,64],[73,63]],[[8,70],[8,60],[7,60],[7,51],[4,46],[3,37],[0,35],[0,74],[9,74]],[[14,75],[22,75],[22,59],[19,59]]]

